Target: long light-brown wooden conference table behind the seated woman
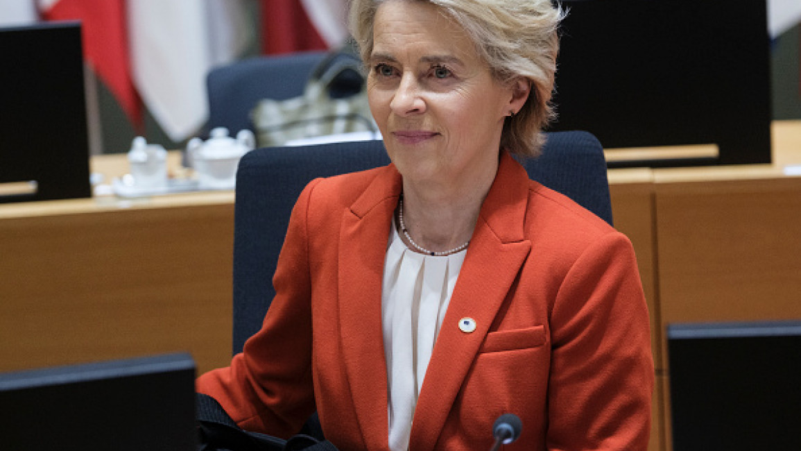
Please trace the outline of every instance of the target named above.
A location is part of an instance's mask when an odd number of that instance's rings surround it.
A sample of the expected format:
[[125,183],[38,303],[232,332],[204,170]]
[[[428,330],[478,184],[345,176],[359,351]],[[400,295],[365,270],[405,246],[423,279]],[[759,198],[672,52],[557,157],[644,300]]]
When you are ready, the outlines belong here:
[[[771,164],[608,172],[651,313],[650,449],[670,449],[666,324],[801,318],[801,121],[772,132]],[[122,176],[125,155],[91,170]],[[227,364],[233,214],[233,191],[0,205],[0,371],[176,351],[199,372]]]

